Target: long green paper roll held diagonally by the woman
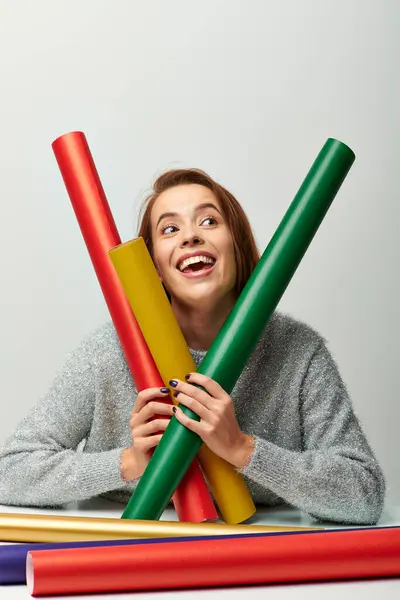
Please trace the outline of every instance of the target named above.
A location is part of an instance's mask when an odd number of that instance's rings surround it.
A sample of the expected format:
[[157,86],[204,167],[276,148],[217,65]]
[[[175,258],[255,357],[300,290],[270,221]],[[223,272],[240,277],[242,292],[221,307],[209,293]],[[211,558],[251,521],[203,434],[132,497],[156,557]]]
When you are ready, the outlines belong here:
[[[345,144],[327,140],[199,365],[197,371],[215,379],[227,393],[232,391],[354,159]],[[180,408],[199,420],[190,409]],[[140,507],[141,514],[146,514],[142,518],[159,518],[200,445],[200,437],[173,417],[122,516],[135,515],[136,507]]]

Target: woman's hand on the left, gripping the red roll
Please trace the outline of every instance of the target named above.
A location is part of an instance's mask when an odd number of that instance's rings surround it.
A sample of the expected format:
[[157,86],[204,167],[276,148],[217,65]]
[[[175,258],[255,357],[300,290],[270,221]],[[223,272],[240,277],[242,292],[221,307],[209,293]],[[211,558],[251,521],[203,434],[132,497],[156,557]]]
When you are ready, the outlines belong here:
[[161,440],[171,420],[173,405],[168,394],[168,388],[148,388],[137,395],[129,421],[132,446],[121,455],[121,475],[125,481],[143,475],[153,448]]

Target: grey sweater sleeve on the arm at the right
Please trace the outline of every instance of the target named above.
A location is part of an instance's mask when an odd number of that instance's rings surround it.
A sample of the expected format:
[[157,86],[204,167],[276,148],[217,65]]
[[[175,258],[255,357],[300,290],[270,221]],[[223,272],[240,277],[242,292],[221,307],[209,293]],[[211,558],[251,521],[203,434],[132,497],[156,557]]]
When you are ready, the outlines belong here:
[[375,524],[384,504],[384,475],[324,342],[303,380],[300,427],[300,452],[257,436],[241,472],[317,519]]

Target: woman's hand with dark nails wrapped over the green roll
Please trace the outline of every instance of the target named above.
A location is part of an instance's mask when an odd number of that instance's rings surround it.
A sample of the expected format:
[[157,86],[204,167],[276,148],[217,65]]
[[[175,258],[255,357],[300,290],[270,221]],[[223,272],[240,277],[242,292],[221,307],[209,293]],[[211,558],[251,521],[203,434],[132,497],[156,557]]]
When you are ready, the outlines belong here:
[[[254,439],[241,431],[236,420],[232,398],[210,377],[189,373],[186,380],[173,379],[177,401],[200,417],[195,421],[177,407],[175,417],[185,427],[197,433],[203,442],[224,460],[235,467],[245,466],[253,452]],[[201,385],[208,393],[191,385]]]

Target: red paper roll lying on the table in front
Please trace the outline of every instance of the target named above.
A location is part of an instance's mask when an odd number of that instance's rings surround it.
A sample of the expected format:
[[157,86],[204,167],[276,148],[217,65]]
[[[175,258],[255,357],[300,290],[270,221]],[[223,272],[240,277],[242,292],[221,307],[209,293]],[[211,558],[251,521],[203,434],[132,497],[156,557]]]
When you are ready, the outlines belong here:
[[400,530],[329,531],[29,552],[34,596],[400,575]]

